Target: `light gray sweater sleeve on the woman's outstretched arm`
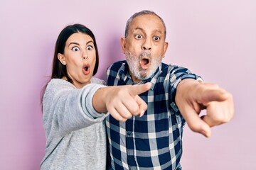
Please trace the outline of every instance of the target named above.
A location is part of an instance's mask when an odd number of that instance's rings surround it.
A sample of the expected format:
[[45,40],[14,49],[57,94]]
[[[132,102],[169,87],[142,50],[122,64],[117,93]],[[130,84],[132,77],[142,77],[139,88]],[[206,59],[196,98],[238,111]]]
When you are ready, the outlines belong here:
[[75,89],[68,81],[50,81],[43,96],[46,134],[53,132],[64,136],[104,120],[107,114],[97,113],[92,106],[95,91],[101,87],[102,84],[87,84],[82,89]]

